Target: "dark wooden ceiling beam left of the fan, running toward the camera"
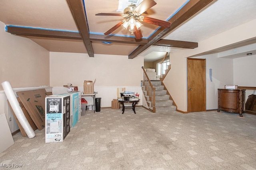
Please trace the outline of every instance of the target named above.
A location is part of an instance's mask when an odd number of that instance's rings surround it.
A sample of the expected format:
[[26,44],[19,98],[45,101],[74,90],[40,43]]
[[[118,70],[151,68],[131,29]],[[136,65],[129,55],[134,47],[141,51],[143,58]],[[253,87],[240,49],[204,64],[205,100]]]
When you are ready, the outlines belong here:
[[82,37],[87,53],[90,57],[94,57],[92,42],[90,41],[90,31],[87,23],[86,12],[83,0],[67,0],[70,11],[76,22],[78,31]]

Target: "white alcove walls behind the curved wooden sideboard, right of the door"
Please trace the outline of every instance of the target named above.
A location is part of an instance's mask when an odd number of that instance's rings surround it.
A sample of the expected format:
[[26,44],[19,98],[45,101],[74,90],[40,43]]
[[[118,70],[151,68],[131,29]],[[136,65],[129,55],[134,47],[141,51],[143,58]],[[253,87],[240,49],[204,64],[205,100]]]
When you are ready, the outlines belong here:
[[[218,108],[218,88],[225,85],[256,86],[256,55],[236,59],[219,58],[218,53],[193,57],[206,59],[206,109]],[[212,68],[212,81],[210,81]],[[246,99],[255,90],[246,90]]]

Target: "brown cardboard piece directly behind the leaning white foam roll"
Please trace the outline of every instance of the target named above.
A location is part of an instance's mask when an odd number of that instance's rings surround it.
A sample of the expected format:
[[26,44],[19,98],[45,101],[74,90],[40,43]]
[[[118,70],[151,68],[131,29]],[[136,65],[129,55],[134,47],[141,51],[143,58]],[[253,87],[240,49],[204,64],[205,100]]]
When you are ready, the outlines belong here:
[[[22,109],[26,119],[28,120],[28,123],[30,124],[30,126],[32,127],[32,129],[35,131],[37,129],[34,121],[31,119],[30,115],[28,114],[28,111],[25,109],[24,105],[22,104],[22,102],[20,101],[20,98],[17,98],[19,104],[20,104],[20,108]],[[8,105],[10,106],[10,103],[9,101],[7,100],[8,102]],[[12,107],[10,106],[10,108],[12,109]],[[25,130],[23,129],[22,125],[20,124],[20,121],[18,120],[17,116],[15,115],[13,109],[12,109],[12,113],[13,113],[13,117],[14,119],[16,120],[17,124],[18,124],[18,127],[20,128],[20,132],[22,134],[23,137],[26,137],[27,134],[25,132]]]

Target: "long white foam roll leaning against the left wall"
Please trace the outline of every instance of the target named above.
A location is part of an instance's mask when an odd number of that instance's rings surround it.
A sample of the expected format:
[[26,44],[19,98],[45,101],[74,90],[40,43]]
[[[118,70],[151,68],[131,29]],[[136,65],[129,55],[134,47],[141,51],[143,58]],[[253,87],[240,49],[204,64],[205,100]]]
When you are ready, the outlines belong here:
[[20,125],[23,127],[24,131],[28,135],[28,138],[31,139],[31,138],[35,137],[36,133],[34,132],[32,127],[28,123],[28,119],[26,118],[22,109],[20,108],[20,104],[17,100],[17,97],[16,97],[14,91],[12,90],[12,86],[11,86],[10,82],[8,82],[8,81],[2,82],[2,86],[4,88],[4,92],[7,96],[7,99],[9,100],[9,103],[12,107],[12,110],[14,111],[18,121],[20,122]]

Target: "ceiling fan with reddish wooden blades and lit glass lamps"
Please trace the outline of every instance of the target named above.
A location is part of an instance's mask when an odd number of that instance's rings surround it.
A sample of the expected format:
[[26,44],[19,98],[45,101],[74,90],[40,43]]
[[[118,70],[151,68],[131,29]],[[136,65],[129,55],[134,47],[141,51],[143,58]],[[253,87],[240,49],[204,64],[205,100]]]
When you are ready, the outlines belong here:
[[98,13],[96,16],[122,16],[124,17],[124,20],[116,24],[114,27],[110,28],[108,31],[104,33],[104,35],[109,35],[116,29],[118,29],[120,26],[122,26],[124,29],[127,29],[134,33],[135,39],[141,39],[142,33],[141,28],[143,26],[142,22],[150,23],[153,25],[158,25],[161,27],[168,28],[170,27],[171,23],[168,21],[158,20],[155,18],[150,18],[147,16],[142,16],[146,10],[152,8],[156,5],[156,2],[154,0],[143,0],[138,6],[135,4],[130,4],[127,8],[124,9],[124,14],[114,14],[114,13]]

